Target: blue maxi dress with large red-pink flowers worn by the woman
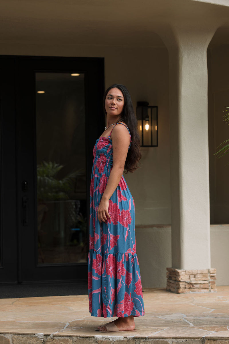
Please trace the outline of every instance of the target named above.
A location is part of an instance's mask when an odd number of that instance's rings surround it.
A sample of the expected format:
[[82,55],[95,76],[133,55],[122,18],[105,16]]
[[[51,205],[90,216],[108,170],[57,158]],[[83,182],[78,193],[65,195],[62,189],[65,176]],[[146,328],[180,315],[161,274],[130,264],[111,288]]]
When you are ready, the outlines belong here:
[[111,218],[102,223],[97,218],[98,206],[113,166],[110,136],[111,133],[108,137],[97,139],[93,149],[88,254],[89,311],[92,316],[104,318],[140,316],[145,311],[135,245],[135,206],[123,176],[109,200],[108,213]]

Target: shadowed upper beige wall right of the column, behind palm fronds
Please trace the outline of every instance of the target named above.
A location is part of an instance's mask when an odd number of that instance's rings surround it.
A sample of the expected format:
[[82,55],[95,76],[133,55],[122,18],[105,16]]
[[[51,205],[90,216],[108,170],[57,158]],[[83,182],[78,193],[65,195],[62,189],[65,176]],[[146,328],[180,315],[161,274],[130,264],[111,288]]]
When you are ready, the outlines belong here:
[[229,154],[214,156],[217,147],[229,139],[229,126],[222,116],[229,106],[229,45],[208,49],[209,178],[211,223],[229,223]]

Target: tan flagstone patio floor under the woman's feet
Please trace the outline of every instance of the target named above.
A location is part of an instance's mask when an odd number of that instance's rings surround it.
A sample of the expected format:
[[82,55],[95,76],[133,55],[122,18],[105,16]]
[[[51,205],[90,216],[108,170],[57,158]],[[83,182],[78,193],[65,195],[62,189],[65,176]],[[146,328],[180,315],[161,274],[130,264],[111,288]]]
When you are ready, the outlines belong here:
[[0,344],[229,344],[229,286],[203,294],[144,289],[143,297],[137,331],[107,334],[95,328],[110,318],[92,317],[87,295],[0,299]]

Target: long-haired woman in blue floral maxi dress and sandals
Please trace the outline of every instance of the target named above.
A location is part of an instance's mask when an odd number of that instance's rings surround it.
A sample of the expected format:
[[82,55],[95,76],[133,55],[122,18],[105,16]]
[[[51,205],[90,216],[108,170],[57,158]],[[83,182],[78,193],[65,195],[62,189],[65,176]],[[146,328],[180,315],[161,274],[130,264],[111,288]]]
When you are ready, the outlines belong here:
[[137,120],[123,85],[109,87],[103,104],[107,126],[94,146],[90,192],[89,309],[92,316],[118,317],[100,332],[136,331],[134,317],[144,315],[144,303],[134,200],[123,171],[136,170],[141,158]]

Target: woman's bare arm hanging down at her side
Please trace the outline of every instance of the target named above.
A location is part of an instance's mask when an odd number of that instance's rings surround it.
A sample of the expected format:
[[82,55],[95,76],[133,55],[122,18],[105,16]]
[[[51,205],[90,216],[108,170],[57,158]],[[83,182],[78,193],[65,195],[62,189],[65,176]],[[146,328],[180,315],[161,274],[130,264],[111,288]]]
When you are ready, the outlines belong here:
[[129,132],[122,124],[117,124],[114,127],[111,138],[113,147],[113,167],[98,207],[97,216],[99,222],[105,222],[107,217],[110,218],[108,213],[109,200],[122,178],[128,147],[130,144]]

